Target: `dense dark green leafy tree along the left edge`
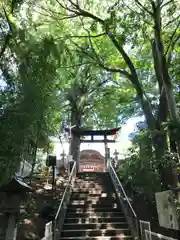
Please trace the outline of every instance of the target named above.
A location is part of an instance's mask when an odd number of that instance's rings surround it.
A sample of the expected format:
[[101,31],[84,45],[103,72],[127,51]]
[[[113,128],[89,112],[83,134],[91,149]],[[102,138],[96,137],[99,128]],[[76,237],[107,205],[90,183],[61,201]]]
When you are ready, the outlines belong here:
[[25,30],[14,26],[15,39],[9,42],[1,64],[5,82],[1,91],[1,184],[18,171],[27,154],[33,170],[40,142],[56,130],[52,124],[57,107],[53,39],[35,39]]

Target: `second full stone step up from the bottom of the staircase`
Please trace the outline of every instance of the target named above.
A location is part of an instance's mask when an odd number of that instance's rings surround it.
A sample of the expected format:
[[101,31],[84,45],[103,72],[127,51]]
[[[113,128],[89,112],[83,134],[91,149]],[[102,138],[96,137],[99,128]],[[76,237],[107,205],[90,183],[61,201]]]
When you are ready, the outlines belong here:
[[108,228],[112,228],[112,229],[128,229],[128,225],[125,222],[113,222],[113,223],[78,223],[78,224],[74,224],[74,223],[65,223],[63,226],[64,230],[76,230],[76,229],[108,229]]

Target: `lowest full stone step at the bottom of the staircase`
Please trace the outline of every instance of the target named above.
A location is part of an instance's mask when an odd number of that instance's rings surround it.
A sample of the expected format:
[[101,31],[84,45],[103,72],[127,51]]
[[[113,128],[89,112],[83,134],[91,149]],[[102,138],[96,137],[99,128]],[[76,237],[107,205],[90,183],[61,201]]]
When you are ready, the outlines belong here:
[[105,228],[105,229],[69,229],[62,230],[61,237],[98,237],[98,236],[130,236],[130,230],[125,228],[114,229],[114,228]]

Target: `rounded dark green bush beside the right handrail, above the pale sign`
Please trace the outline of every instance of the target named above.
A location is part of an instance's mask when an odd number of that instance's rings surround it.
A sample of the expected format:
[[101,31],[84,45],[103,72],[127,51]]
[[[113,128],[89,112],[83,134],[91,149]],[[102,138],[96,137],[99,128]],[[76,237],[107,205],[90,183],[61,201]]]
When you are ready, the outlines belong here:
[[152,165],[152,158],[139,155],[137,145],[133,146],[129,155],[126,162],[119,167],[118,176],[125,187],[152,201],[154,194],[161,191],[161,180],[157,169]]

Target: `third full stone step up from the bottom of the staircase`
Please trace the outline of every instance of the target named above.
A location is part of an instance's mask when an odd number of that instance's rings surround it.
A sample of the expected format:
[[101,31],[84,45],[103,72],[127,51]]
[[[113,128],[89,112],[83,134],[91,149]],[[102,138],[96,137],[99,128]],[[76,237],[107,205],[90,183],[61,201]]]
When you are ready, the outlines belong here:
[[124,216],[115,216],[115,217],[84,217],[84,218],[65,218],[64,223],[113,223],[121,222],[126,223]]

